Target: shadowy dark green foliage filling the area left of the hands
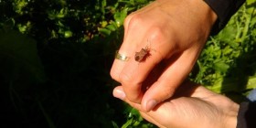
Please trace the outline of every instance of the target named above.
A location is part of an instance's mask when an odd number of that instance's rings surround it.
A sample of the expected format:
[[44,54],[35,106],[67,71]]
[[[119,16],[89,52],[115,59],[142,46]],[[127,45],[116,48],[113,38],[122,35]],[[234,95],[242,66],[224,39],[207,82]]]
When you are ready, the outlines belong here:
[[0,127],[153,126],[112,97],[109,75],[125,16],[147,3],[1,0]]

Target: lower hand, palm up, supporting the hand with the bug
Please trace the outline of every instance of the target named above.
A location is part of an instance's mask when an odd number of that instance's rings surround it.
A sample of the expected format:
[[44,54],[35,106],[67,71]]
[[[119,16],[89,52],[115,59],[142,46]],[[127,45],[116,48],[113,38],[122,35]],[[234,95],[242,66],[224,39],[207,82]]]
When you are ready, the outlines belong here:
[[[125,98],[122,86],[113,95],[123,97],[135,108],[141,107]],[[238,111],[239,105],[229,98],[186,82],[172,99],[159,103],[151,112],[140,112],[144,119],[161,128],[235,128]]]

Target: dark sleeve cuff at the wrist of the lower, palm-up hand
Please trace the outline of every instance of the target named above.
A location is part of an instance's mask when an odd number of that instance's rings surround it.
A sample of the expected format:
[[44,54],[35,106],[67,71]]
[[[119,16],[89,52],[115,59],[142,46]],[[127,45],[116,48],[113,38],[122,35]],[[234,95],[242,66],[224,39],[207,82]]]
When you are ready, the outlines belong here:
[[241,102],[237,128],[256,127],[256,102]]

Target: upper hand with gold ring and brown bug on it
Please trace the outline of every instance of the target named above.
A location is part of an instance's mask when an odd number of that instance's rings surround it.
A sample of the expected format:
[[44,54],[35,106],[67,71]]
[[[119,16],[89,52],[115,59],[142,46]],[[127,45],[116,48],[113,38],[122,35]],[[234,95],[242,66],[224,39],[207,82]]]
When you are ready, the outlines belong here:
[[[119,53],[130,59],[115,59],[111,69],[127,100],[149,112],[170,98],[193,68],[216,18],[202,0],[156,0],[127,16]],[[138,62],[134,55],[142,48],[149,54]]]

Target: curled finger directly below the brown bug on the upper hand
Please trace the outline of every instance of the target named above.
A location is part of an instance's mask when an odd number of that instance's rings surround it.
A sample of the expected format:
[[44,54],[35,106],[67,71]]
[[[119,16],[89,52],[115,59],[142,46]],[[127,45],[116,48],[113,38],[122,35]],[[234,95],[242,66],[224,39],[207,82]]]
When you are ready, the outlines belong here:
[[121,74],[120,80],[123,85],[123,90],[130,101],[140,103],[144,92],[142,85],[149,72],[161,60],[160,56],[155,54],[155,57],[149,57],[144,62],[131,60],[125,65]]

